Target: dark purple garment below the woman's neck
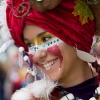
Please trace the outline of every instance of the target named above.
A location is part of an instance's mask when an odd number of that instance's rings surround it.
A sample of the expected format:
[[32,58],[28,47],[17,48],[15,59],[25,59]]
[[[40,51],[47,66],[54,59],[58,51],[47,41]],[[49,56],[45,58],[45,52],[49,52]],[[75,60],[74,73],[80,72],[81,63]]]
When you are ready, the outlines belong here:
[[[54,95],[55,98],[57,97],[61,98],[64,95],[64,93],[62,92],[63,90],[65,92],[67,91],[69,93],[73,93],[76,97],[81,98],[83,100],[89,100],[89,98],[92,97],[92,95],[94,94],[97,85],[98,85],[97,78],[94,77],[73,87],[69,88],[56,87],[52,95]],[[54,97],[53,100],[55,100]]]

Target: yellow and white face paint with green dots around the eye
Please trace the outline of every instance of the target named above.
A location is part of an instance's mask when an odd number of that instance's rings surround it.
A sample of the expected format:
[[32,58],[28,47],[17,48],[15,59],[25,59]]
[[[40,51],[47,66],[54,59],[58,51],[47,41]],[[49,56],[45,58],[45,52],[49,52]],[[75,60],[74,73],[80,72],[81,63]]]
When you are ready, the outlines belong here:
[[62,40],[47,32],[44,35],[34,39],[34,41],[30,44],[31,46],[29,46],[29,54],[34,54],[38,50],[42,49],[47,50],[49,47],[61,42]]

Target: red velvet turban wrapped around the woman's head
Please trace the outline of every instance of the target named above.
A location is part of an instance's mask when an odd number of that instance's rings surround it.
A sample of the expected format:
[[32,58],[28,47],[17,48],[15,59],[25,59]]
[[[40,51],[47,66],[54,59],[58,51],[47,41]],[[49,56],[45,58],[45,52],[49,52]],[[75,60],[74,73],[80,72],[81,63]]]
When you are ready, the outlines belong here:
[[[94,21],[88,19],[88,23],[81,24],[79,16],[72,14],[76,5],[74,0],[62,0],[59,6],[43,13],[31,8],[27,16],[21,18],[15,17],[14,14],[21,15],[18,13],[18,9],[23,10],[22,15],[27,13],[29,0],[13,1],[13,5],[10,0],[7,1],[7,24],[15,40],[15,45],[18,47],[23,46],[28,50],[22,40],[22,33],[25,24],[33,24],[52,33],[71,46],[77,45],[79,50],[90,51],[95,28]],[[20,8],[23,6],[24,9]]]

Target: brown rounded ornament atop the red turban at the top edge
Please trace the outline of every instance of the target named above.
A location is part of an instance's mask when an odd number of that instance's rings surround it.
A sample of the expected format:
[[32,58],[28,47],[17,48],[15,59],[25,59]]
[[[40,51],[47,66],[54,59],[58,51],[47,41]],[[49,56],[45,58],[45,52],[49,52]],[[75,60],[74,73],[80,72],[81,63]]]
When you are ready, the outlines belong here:
[[30,5],[39,12],[51,10],[59,5],[61,0],[30,0]]

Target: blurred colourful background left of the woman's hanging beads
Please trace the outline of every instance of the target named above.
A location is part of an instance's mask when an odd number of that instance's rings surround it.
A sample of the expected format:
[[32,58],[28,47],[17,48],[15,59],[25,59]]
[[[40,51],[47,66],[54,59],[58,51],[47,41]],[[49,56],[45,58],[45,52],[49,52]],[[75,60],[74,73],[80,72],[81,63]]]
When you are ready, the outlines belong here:
[[[0,38],[0,46],[2,40]],[[20,68],[18,64],[18,49],[12,45],[4,53],[0,54],[0,100],[10,100],[11,95],[25,86],[27,64]],[[28,82],[32,81],[28,76]]]

